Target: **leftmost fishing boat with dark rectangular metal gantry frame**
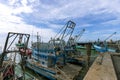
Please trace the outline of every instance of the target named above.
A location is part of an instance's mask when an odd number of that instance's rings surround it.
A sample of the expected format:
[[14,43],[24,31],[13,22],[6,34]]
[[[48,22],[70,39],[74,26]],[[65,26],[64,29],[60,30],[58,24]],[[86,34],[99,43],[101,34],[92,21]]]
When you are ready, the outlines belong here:
[[31,54],[27,48],[29,37],[24,33],[8,33],[0,54],[0,80],[38,80],[24,69],[24,58]]

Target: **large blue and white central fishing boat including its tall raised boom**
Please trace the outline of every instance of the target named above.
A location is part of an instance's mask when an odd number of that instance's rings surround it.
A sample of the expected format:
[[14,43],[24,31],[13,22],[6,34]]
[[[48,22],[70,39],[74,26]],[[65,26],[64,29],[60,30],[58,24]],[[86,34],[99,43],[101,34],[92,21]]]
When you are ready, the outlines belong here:
[[67,63],[67,54],[73,49],[66,43],[69,40],[64,38],[70,39],[75,25],[73,21],[68,21],[48,43],[40,42],[37,33],[37,42],[32,44],[32,58],[26,60],[26,67],[50,80],[73,80],[81,67]]

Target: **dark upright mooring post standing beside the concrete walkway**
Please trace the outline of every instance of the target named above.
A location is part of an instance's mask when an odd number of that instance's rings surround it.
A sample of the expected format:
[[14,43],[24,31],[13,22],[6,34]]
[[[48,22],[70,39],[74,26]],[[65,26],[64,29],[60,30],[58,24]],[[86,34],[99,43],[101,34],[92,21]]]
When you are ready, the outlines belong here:
[[86,55],[86,57],[87,57],[87,58],[86,58],[86,62],[87,62],[86,67],[87,67],[87,68],[88,68],[89,65],[90,65],[91,46],[92,46],[91,43],[86,44],[86,52],[87,52],[87,55]]

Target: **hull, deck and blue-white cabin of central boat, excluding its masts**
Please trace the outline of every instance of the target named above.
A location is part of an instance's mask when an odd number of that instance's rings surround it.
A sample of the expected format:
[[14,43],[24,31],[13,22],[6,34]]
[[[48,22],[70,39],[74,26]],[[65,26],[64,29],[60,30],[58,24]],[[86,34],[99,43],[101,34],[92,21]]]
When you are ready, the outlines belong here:
[[32,49],[26,67],[50,80],[73,80],[81,70],[80,66],[67,63],[61,51],[39,49]]

